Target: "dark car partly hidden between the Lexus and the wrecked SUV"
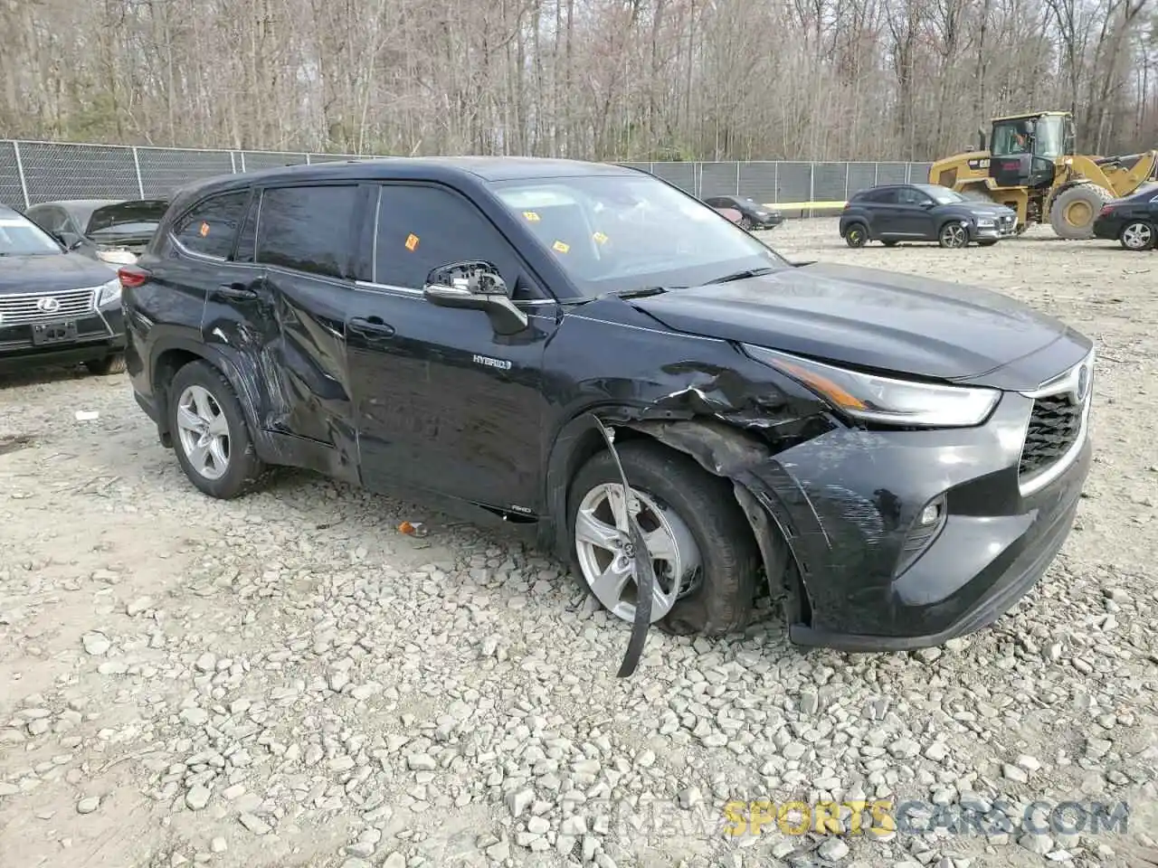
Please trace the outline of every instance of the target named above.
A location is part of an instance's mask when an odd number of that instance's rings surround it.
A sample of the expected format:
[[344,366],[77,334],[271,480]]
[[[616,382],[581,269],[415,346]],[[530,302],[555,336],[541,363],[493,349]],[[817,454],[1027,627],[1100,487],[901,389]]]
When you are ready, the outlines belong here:
[[168,207],[164,199],[64,199],[24,214],[66,248],[117,266],[137,262]]

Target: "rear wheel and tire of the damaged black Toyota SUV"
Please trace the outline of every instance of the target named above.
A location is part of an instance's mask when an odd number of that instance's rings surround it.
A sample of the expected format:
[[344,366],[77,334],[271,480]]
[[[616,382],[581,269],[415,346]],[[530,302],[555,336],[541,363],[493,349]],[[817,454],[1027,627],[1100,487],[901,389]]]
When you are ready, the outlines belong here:
[[181,368],[169,384],[169,431],[181,469],[203,493],[232,500],[264,479],[241,402],[205,361]]

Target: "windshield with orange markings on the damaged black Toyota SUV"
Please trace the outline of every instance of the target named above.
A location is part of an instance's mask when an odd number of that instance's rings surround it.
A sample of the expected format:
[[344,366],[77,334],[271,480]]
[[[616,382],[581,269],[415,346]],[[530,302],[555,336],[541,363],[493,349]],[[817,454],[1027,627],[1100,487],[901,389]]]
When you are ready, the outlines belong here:
[[714,208],[650,175],[520,179],[494,190],[588,296],[790,267]]

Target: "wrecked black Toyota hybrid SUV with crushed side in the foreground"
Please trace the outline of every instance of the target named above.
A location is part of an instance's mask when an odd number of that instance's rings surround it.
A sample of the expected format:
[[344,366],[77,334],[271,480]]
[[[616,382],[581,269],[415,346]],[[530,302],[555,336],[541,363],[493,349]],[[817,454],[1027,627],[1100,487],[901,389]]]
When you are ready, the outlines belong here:
[[640,627],[738,630],[763,588],[800,643],[940,643],[1042,575],[1090,468],[1090,339],[793,265],[623,167],[227,176],[120,278],[135,398],[200,491],[291,465],[412,494],[527,534],[617,617],[639,582]]

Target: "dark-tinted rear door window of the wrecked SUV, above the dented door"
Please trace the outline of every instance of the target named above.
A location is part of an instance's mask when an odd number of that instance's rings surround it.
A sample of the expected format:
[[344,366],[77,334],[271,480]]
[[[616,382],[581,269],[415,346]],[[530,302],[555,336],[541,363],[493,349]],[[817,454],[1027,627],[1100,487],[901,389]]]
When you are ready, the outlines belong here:
[[267,189],[257,221],[257,262],[309,274],[349,278],[357,234],[358,186]]

